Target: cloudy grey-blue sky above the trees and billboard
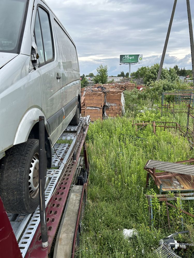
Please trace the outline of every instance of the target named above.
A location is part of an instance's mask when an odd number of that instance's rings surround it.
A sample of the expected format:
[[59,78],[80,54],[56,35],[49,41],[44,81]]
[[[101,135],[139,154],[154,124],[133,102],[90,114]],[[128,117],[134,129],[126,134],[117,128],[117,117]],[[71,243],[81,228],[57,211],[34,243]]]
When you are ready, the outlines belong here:
[[[76,44],[80,74],[129,71],[121,54],[143,54],[141,66],[160,63],[174,0],[46,0]],[[194,0],[190,0],[194,25]],[[192,69],[186,0],[178,0],[163,67]]]

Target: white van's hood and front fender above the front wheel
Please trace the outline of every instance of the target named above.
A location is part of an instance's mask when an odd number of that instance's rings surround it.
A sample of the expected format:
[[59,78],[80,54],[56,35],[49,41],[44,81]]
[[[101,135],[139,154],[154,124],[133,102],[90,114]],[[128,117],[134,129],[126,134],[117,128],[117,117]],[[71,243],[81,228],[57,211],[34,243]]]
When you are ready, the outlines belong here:
[[[0,69],[0,152],[13,146],[27,111],[32,108],[41,110],[38,73],[35,70],[29,73],[30,62],[29,56],[17,55]],[[26,128],[23,133],[25,131],[27,135],[28,130]],[[26,135],[21,137],[26,139]]]

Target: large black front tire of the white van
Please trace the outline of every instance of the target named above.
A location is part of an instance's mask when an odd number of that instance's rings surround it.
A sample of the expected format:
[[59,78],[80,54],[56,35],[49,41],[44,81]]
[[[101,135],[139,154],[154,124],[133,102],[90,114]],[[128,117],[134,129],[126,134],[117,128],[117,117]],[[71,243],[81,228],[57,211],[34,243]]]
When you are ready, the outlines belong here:
[[[33,213],[39,205],[37,188],[39,140],[28,139],[6,152],[0,165],[0,196],[8,213]],[[46,154],[45,154],[46,155]],[[35,190],[30,190],[30,174],[33,167]],[[45,164],[45,171],[46,171]],[[36,173],[36,174],[35,174]],[[34,175],[36,175],[34,177]],[[37,188],[37,189],[36,189]],[[30,193],[31,192],[31,193]]]

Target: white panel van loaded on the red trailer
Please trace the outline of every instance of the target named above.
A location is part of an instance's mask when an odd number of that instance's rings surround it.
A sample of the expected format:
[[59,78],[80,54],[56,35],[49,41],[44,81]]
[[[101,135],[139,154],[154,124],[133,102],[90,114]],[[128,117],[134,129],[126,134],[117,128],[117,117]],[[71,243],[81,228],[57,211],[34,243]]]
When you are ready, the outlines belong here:
[[78,125],[76,46],[42,0],[0,1],[0,196],[7,212],[39,204],[39,116],[45,117],[47,167],[52,144]]

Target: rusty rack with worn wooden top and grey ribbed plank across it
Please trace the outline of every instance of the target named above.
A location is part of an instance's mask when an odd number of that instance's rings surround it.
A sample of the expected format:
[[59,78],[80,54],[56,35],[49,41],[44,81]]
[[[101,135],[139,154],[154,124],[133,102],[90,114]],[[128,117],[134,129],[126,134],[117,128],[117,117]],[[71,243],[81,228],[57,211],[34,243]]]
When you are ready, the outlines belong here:
[[[193,162],[194,159],[183,160],[176,163],[158,160],[148,160],[144,169],[147,171],[146,187],[148,180],[154,180],[159,193],[173,191],[184,192],[194,190],[194,166],[181,163]],[[156,170],[163,171],[157,172]]]

